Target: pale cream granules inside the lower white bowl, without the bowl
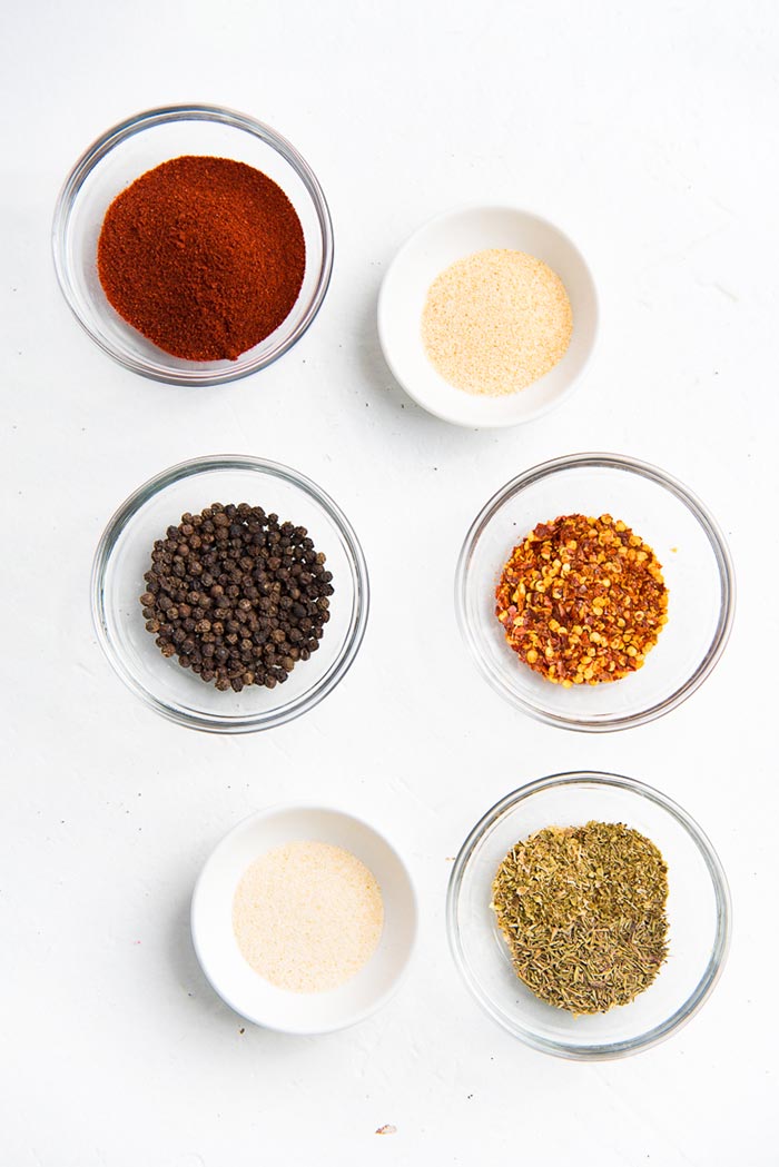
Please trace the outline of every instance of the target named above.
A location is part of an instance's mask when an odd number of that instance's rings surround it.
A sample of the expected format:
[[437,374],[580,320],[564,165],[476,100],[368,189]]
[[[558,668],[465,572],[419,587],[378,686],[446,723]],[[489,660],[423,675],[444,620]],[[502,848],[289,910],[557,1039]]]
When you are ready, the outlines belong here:
[[374,875],[329,843],[287,843],[260,855],[232,901],[242,956],[265,980],[293,993],[321,993],[349,980],[375,952],[383,927]]

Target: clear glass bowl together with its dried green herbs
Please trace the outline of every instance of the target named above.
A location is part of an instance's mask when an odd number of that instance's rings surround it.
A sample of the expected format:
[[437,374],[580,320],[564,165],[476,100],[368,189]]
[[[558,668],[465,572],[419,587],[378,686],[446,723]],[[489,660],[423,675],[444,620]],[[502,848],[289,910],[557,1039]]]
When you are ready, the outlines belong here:
[[482,1008],[559,1057],[624,1057],[701,1008],[728,953],[708,838],[660,791],[558,774],[502,798],[455,859],[447,930]]

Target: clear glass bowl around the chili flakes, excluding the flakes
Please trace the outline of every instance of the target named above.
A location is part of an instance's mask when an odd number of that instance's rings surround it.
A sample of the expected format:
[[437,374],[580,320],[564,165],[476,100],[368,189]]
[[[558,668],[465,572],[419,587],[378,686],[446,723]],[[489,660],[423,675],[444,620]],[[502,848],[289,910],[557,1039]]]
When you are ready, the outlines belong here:
[[[508,647],[495,587],[512,548],[537,523],[571,513],[610,513],[649,544],[668,588],[668,623],[642,669],[563,689]],[[719,527],[681,482],[618,454],[573,454],[526,470],[489,499],[462,545],[454,603],[464,640],[493,689],[548,725],[598,732],[652,721],[695,692],[728,643],[735,580]]]

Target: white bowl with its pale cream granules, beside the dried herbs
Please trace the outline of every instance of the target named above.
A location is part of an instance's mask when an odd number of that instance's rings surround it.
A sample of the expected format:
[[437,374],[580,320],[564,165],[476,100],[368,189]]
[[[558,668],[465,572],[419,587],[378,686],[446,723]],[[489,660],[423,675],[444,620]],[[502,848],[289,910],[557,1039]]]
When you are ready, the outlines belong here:
[[343,1029],[397,988],[417,929],[405,865],[343,811],[285,805],[230,831],[193,895],[197,959],[218,995],[283,1033]]

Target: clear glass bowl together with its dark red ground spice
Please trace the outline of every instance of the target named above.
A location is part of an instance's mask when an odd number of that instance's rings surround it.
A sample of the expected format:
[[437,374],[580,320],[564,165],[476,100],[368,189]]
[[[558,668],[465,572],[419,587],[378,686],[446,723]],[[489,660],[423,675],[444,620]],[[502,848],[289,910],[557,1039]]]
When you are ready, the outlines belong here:
[[148,110],[77,160],[54,215],[62,293],[124,368],[217,385],[266,368],[306,331],[333,266],[319,181],[244,113]]

